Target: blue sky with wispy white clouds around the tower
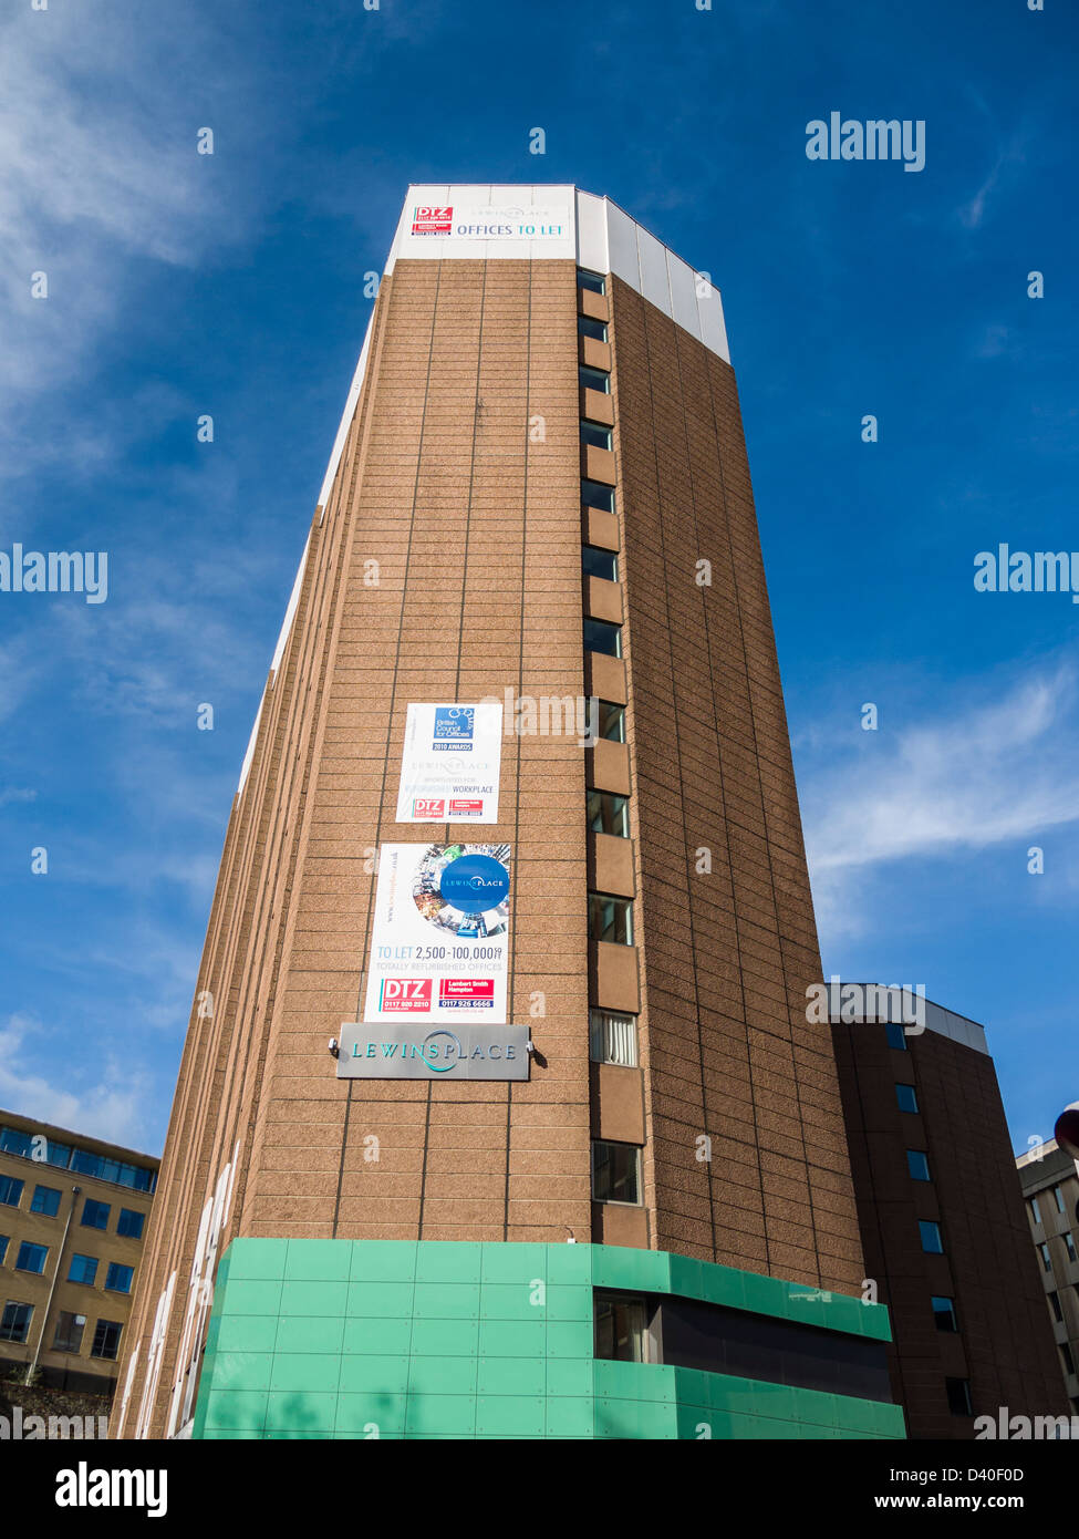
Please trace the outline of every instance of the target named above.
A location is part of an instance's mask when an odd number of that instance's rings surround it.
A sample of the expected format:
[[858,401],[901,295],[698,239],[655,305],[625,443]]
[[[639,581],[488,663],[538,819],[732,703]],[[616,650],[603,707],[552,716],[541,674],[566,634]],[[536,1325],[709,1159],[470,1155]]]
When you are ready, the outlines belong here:
[[[973,588],[1002,540],[1079,546],[1079,25],[1045,5],[8,9],[0,549],[106,549],[109,597],[0,594],[0,1107],[160,1148],[363,274],[409,180],[576,182],[723,295],[825,971],[985,1022],[1016,1147],[1050,1134],[1079,606]],[[925,169],[808,160],[831,111],[925,120]]]

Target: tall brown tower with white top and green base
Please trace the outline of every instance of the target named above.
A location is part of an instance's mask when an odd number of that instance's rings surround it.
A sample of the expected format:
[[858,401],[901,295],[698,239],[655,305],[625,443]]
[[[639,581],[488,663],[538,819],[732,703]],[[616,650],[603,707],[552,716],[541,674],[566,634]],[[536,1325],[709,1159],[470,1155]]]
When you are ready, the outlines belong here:
[[606,199],[411,188],[115,1434],[902,1436],[814,977],[719,294]]

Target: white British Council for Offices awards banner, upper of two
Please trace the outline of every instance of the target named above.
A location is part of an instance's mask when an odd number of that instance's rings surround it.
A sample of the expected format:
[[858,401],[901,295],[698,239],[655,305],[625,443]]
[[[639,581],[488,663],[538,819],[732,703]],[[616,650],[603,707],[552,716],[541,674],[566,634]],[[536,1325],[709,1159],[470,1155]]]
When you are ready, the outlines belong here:
[[409,705],[399,823],[497,823],[502,706]]

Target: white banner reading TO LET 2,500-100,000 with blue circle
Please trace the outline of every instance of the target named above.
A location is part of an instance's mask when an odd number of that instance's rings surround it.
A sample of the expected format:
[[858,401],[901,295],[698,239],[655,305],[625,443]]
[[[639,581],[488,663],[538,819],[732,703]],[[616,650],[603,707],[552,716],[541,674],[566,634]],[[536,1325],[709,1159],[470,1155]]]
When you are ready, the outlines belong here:
[[365,1023],[502,1027],[508,956],[509,845],[382,846]]

